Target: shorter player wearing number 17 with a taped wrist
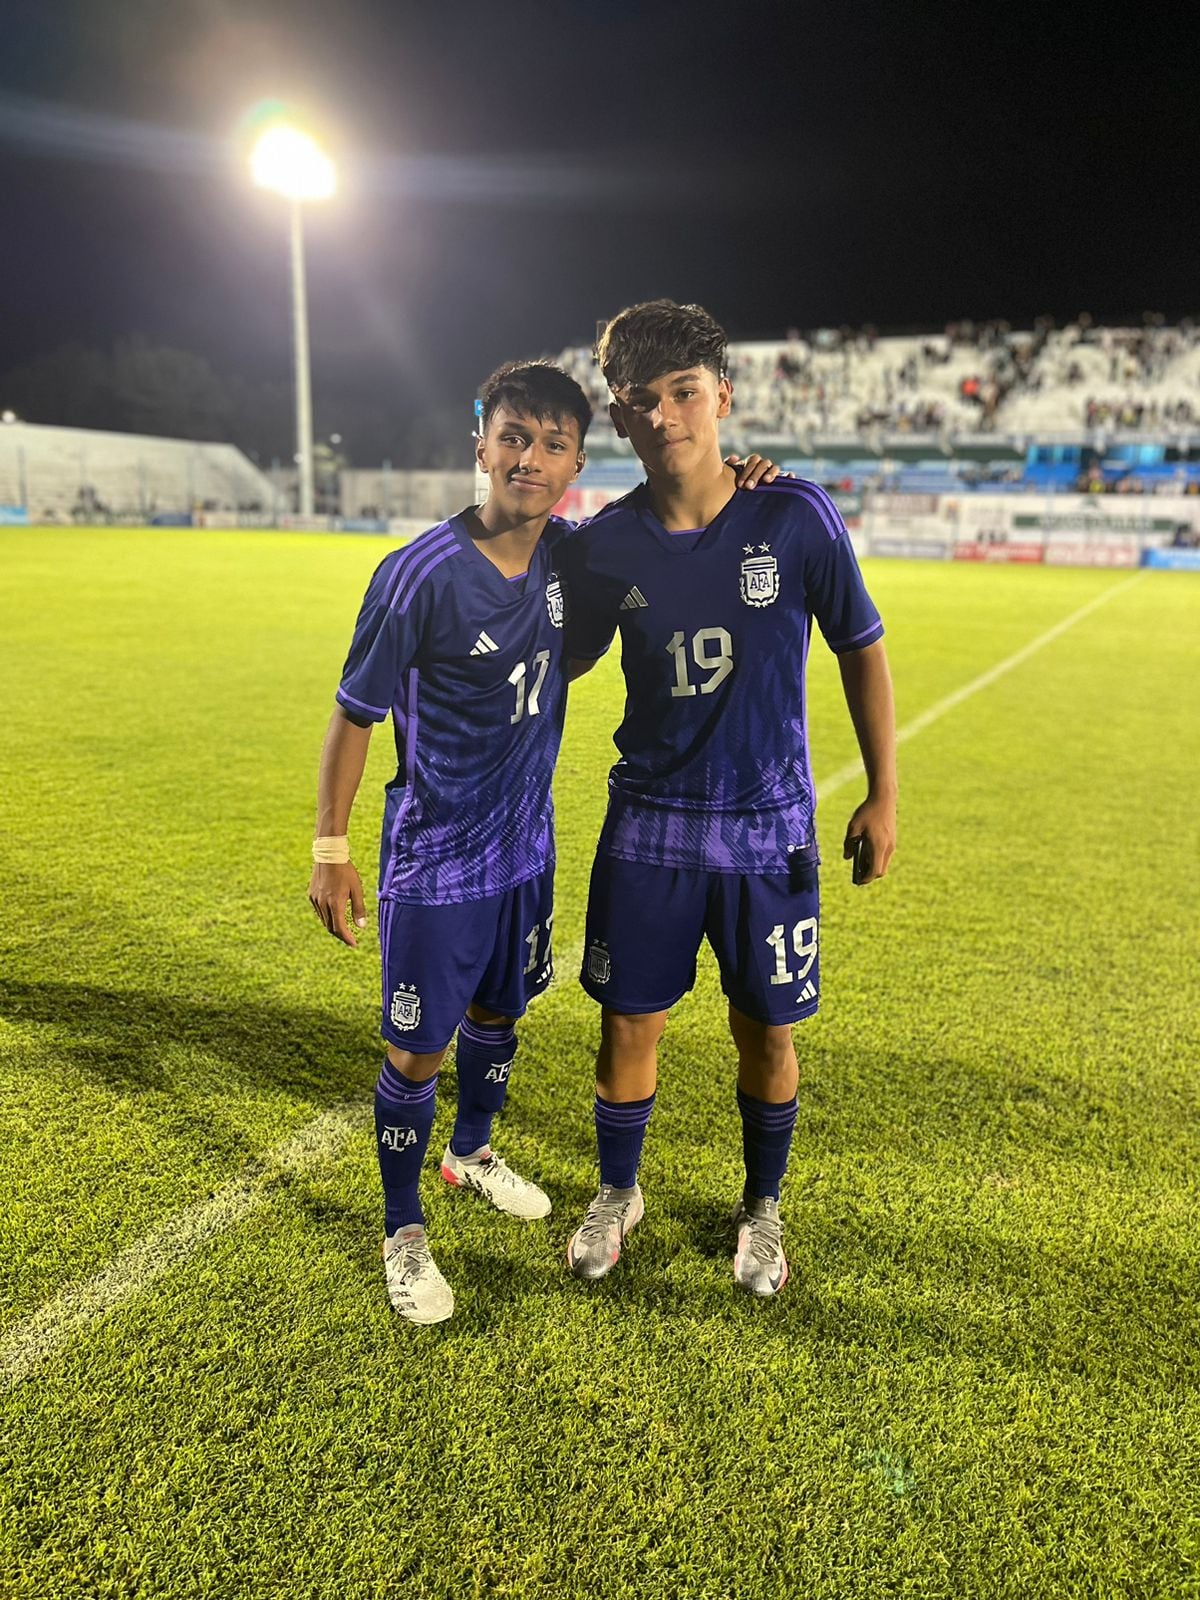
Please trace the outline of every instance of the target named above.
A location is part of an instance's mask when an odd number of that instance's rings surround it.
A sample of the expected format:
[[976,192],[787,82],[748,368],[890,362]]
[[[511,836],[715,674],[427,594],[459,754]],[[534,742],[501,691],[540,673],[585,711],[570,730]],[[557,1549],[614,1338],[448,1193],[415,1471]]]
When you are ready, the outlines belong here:
[[[590,405],[541,362],[482,389],[478,509],[384,557],[366,590],[322,752],[309,899],[355,946],[365,926],[347,827],[374,723],[398,770],[379,854],[382,1034],[374,1096],[392,1306],[443,1322],[454,1296],[418,1194],[437,1074],[458,1029],[458,1115],[442,1176],[518,1218],[550,1202],[491,1149],[517,1053],[515,1022],[550,981],[554,811],[562,736],[562,549],[550,509],[584,466]],[[771,464],[750,458],[742,482]]]

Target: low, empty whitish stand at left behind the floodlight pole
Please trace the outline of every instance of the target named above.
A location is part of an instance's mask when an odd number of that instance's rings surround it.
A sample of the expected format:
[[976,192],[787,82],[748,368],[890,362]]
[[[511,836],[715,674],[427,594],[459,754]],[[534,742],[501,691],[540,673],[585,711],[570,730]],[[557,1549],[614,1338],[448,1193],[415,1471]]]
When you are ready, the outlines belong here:
[[37,522],[272,512],[275,491],[234,445],[0,424],[0,506]]

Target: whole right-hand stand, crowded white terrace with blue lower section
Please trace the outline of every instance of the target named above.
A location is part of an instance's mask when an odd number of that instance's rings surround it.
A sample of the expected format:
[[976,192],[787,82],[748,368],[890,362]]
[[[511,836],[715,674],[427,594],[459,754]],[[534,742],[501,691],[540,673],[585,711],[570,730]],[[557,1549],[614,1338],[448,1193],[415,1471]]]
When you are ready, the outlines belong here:
[[[608,392],[590,350],[558,360]],[[954,323],[730,346],[730,450],[821,483],[859,554],[1048,566],[1200,568],[1200,328]],[[560,510],[640,477],[606,422]]]

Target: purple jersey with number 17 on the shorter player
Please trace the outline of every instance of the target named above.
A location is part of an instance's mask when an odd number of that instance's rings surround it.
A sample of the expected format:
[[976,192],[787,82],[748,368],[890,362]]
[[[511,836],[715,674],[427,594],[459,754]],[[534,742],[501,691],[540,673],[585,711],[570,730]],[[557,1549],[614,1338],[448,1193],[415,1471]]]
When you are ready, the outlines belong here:
[[512,581],[464,515],[379,563],[338,688],[352,717],[392,715],[379,894],[419,906],[485,899],[554,862],[570,525],[552,517]]

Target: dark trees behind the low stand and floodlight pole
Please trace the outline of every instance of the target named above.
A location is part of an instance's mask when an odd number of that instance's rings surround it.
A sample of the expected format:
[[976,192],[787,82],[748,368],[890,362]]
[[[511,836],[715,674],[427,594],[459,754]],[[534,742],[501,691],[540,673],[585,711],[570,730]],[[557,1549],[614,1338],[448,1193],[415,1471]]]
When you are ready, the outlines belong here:
[[[237,445],[269,467],[296,448],[290,382],[254,382],[218,373],[203,355],[128,334],[110,350],[64,344],[0,374],[0,410],[24,422],[94,427],[163,438]],[[338,435],[338,454],[358,466],[461,467],[470,459],[469,418],[429,408],[403,418],[400,406],[315,389],[317,440]]]

